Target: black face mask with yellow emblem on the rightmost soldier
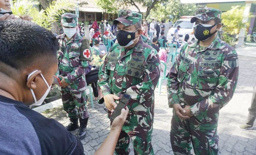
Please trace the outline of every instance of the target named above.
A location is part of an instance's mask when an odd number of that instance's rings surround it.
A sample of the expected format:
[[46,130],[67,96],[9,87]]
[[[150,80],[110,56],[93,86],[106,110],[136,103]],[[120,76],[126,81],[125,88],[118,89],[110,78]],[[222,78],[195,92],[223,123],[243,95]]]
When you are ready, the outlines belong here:
[[210,26],[210,27],[205,27],[202,24],[198,24],[196,27],[194,27],[194,35],[196,39],[200,41],[205,41],[206,39],[210,38],[213,34],[217,32],[217,30],[214,33],[210,33],[212,27],[214,27],[216,24]]

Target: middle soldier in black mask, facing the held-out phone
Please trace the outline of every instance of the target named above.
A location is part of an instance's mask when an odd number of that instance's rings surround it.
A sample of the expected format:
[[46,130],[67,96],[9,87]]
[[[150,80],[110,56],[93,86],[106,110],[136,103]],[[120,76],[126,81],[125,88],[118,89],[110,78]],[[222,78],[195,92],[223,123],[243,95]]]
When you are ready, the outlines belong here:
[[[99,83],[105,104],[113,110],[124,93],[132,96],[129,114],[122,128],[115,154],[129,154],[132,139],[136,155],[153,155],[151,137],[154,120],[154,90],[157,85],[159,57],[157,51],[142,41],[142,15],[129,10],[118,11],[117,41],[99,69]],[[119,96],[119,97],[118,97]]]

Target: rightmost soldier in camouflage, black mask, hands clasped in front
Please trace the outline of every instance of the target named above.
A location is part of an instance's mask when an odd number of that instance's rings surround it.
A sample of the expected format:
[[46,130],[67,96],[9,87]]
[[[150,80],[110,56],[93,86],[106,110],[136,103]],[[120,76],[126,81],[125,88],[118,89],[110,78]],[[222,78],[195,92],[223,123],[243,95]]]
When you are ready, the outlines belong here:
[[[167,92],[173,108],[170,140],[175,155],[193,153],[191,134],[196,155],[220,154],[219,110],[232,98],[238,79],[237,53],[216,33],[220,18],[221,11],[214,8],[197,11],[191,23],[196,22],[198,41],[185,44],[170,69]],[[185,103],[184,109],[180,103]]]

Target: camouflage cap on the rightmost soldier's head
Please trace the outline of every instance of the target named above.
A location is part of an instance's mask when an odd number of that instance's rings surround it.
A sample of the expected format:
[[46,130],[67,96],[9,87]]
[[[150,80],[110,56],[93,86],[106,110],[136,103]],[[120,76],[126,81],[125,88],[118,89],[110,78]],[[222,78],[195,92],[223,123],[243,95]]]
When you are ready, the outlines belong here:
[[196,21],[196,19],[209,21],[214,18],[221,19],[221,10],[210,8],[210,7],[204,7],[196,11],[196,16],[191,18],[190,22],[193,23]]

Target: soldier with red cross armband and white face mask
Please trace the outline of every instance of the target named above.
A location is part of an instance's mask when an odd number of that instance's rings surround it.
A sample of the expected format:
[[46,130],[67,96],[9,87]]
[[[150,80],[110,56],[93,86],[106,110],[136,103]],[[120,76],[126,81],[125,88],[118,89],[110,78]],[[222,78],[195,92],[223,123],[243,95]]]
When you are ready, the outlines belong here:
[[64,110],[71,123],[68,131],[80,128],[78,137],[84,139],[89,118],[87,112],[85,70],[88,67],[91,53],[89,40],[77,33],[77,16],[71,13],[61,15],[64,34],[59,35],[60,50],[58,51],[59,69],[56,73],[61,79],[61,97]]

